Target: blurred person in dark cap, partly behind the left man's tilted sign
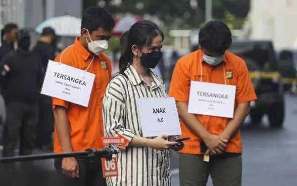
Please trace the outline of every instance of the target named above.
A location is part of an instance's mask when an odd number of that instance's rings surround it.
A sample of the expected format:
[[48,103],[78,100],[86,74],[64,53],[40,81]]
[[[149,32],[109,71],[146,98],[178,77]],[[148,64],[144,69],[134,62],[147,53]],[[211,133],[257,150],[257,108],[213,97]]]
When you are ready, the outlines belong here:
[[[55,58],[56,34],[50,27],[43,29],[41,37],[33,48],[33,52],[41,58],[43,69],[47,69],[49,60]],[[41,81],[44,80],[42,75]],[[51,108],[51,97],[41,94],[39,101],[39,123],[36,136],[36,144],[42,150],[52,150],[53,112]]]

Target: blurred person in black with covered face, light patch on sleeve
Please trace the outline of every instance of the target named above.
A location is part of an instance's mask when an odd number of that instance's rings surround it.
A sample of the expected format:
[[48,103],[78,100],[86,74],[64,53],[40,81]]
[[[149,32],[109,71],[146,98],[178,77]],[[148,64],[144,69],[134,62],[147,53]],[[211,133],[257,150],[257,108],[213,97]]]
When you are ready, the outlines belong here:
[[30,34],[17,33],[18,48],[4,56],[0,63],[0,81],[6,81],[3,95],[6,103],[5,141],[3,156],[14,156],[20,138],[20,155],[32,154],[38,122],[42,65],[37,54],[29,50]]

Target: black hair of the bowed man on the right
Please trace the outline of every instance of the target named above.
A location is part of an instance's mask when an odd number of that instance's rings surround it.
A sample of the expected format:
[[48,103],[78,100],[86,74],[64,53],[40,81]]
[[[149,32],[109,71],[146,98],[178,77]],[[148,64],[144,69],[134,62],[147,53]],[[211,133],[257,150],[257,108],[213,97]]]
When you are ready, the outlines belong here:
[[209,21],[199,31],[199,45],[211,52],[223,54],[232,44],[232,34],[221,21]]

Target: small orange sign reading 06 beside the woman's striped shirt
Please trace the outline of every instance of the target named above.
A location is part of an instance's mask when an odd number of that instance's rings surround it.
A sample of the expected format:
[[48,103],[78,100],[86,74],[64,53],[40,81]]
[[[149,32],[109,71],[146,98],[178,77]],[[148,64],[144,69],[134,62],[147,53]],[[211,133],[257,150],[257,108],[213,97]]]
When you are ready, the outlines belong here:
[[117,158],[112,157],[110,161],[106,158],[101,158],[103,177],[118,176]]

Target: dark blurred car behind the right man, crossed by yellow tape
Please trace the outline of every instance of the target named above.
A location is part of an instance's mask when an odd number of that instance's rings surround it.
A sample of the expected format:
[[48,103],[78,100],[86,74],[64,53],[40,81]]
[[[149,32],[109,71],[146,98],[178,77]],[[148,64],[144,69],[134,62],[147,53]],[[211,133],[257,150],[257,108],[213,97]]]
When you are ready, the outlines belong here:
[[229,50],[246,61],[258,97],[251,102],[252,123],[259,123],[267,114],[271,127],[282,127],[285,118],[284,89],[272,42],[238,40]]

